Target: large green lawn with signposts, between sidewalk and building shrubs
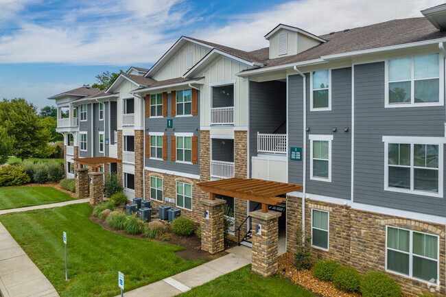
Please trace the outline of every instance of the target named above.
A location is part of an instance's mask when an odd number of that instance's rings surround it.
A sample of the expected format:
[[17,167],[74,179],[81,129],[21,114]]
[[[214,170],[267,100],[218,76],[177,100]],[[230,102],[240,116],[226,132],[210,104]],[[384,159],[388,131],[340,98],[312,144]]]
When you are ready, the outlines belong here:
[[[60,296],[116,296],[118,271],[126,291],[193,268],[179,246],[118,235],[91,221],[88,203],[0,215],[0,222],[43,271]],[[67,232],[68,282],[64,281]]]

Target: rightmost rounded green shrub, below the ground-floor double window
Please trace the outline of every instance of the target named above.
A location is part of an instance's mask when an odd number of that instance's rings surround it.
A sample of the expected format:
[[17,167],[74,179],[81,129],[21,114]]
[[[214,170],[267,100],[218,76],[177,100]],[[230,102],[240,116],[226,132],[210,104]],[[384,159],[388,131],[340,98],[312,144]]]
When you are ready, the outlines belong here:
[[362,278],[360,288],[364,297],[401,297],[401,287],[383,272],[368,272]]

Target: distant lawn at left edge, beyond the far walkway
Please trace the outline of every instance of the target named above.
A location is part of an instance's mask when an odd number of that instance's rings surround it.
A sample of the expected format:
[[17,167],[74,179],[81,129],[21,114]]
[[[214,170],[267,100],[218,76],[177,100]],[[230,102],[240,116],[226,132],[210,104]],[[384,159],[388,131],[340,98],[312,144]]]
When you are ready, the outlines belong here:
[[16,209],[68,200],[74,200],[74,198],[53,187],[0,188],[0,209]]

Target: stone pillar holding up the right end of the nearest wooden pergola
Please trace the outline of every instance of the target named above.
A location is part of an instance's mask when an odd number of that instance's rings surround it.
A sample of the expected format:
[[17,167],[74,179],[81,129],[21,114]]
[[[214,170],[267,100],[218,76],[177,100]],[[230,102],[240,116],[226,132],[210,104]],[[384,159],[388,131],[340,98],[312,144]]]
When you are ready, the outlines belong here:
[[[253,211],[253,272],[261,276],[276,274],[279,270],[279,217],[276,211]],[[261,234],[257,234],[257,224]]]

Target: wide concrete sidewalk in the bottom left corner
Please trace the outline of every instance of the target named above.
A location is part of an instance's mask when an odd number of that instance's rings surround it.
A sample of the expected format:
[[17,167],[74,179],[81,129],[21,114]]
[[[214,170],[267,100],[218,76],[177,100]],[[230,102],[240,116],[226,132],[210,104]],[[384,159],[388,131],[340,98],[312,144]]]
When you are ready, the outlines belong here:
[[53,285],[0,223],[0,296],[59,296]]

